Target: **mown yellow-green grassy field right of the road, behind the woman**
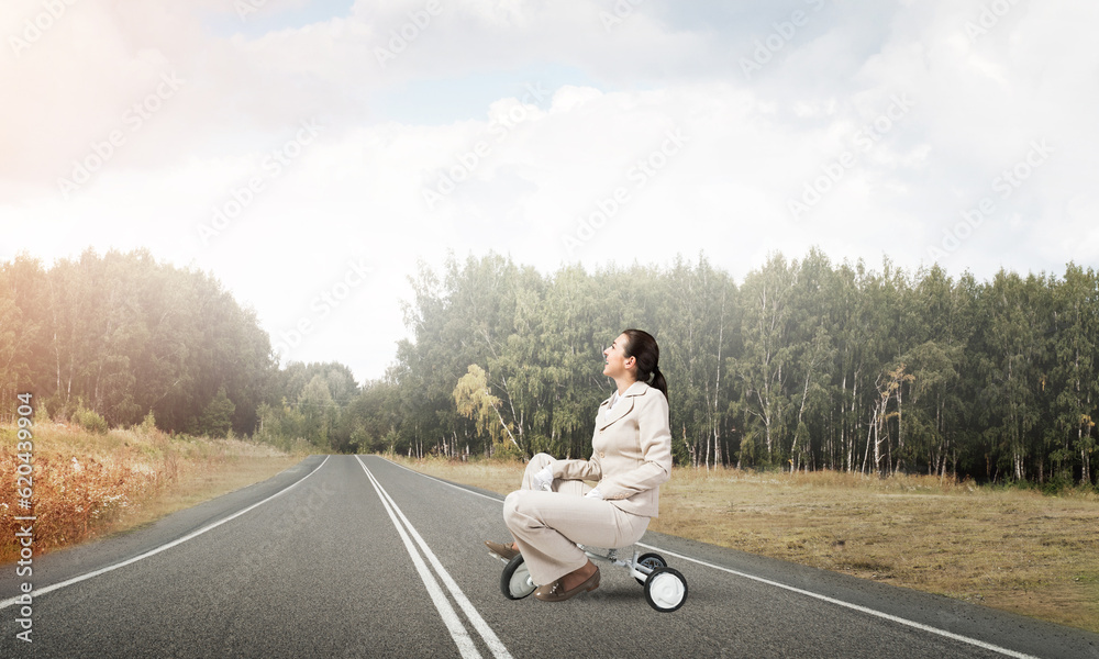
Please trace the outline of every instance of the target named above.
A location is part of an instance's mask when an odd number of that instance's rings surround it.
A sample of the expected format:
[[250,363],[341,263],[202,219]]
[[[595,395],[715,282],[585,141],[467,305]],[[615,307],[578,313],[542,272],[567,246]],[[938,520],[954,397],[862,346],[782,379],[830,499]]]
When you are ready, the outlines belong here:
[[[506,494],[522,465],[407,460]],[[1099,632],[1099,496],[932,477],[676,469],[652,530]]]

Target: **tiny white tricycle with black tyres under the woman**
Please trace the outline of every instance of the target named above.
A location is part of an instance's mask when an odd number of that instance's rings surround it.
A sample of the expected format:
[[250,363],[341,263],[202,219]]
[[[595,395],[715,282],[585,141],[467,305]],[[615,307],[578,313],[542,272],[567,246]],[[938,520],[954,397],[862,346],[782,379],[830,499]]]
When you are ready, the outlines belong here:
[[[618,549],[597,549],[584,545],[577,547],[590,558],[625,568],[637,583],[645,587],[645,601],[648,605],[660,613],[671,613],[687,601],[687,579],[678,570],[669,568],[659,554],[641,554],[634,549],[633,558],[623,560],[619,558]],[[506,597],[522,600],[537,590],[522,554],[504,562],[508,565],[500,577],[500,590]]]

